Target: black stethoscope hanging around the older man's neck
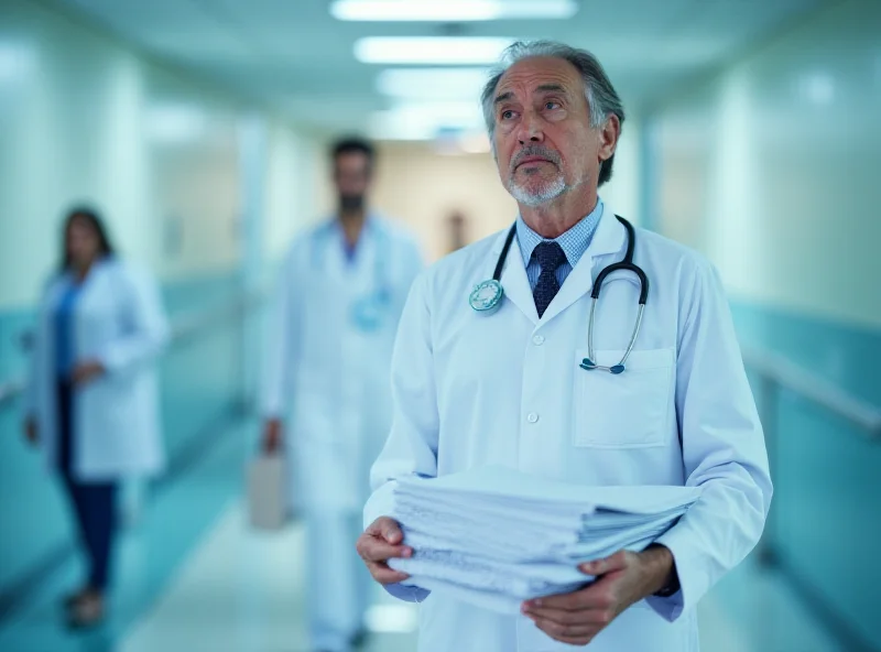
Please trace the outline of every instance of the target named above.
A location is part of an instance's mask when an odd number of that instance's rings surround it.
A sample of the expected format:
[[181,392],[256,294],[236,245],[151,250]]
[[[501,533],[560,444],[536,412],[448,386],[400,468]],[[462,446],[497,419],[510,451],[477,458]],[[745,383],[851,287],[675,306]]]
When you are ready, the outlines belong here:
[[[590,318],[587,325],[587,358],[581,360],[579,367],[585,371],[600,369],[602,371],[608,371],[609,373],[619,374],[624,370],[627,360],[630,357],[630,354],[633,350],[633,345],[637,344],[637,337],[639,337],[640,334],[640,327],[642,326],[642,314],[645,311],[645,301],[649,298],[649,278],[638,264],[633,263],[633,246],[637,241],[637,233],[633,230],[633,225],[619,215],[616,215],[614,217],[617,217],[618,221],[620,221],[627,229],[627,253],[624,253],[624,258],[619,262],[605,267],[597,275],[597,280],[594,282],[594,290],[590,293]],[[496,271],[492,272],[492,279],[475,285],[475,289],[471,291],[471,294],[468,297],[468,304],[478,313],[491,314],[496,312],[496,309],[499,307],[499,304],[501,304],[502,297],[504,296],[504,290],[502,289],[501,284],[502,269],[504,268],[504,261],[508,258],[508,252],[511,249],[511,244],[514,241],[515,235],[516,222],[512,225],[511,230],[508,231],[508,237],[504,240],[504,247],[502,247],[502,252],[499,254],[499,260],[496,263]],[[594,317],[597,311],[597,300],[599,300],[599,293],[600,290],[602,290],[602,283],[606,281],[606,278],[609,274],[619,271],[633,272],[639,279],[639,312],[637,313],[637,323],[633,326],[633,334],[630,336],[630,343],[627,345],[624,356],[617,365],[605,367],[602,365],[597,365],[594,361]]]

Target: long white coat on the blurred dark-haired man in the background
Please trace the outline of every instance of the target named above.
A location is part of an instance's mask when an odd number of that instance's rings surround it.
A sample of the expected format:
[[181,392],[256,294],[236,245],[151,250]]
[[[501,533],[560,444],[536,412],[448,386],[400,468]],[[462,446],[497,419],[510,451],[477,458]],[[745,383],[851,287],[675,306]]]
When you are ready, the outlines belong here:
[[[359,329],[354,302],[377,289],[377,256],[391,293],[381,325]],[[352,263],[336,220],[300,237],[281,269],[267,340],[263,412],[290,417],[291,501],[311,511],[359,513],[391,423],[389,370],[398,322],[422,270],[415,240],[369,217]]]

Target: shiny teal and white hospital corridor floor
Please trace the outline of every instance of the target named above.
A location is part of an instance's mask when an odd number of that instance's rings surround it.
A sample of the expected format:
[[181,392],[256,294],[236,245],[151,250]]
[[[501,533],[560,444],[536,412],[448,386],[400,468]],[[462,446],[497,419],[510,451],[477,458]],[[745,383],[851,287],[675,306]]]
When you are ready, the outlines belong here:
[[[229,428],[146,502],[122,535],[118,588],[102,628],[70,634],[62,627],[58,596],[80,576],[72,559],[0,623],[0,650],[308,652],[302,528],[268,534],[246,524],[242,476],[254,427]],[[366,650],[415,651],[415,609],[378,589]],[[844,652],[785,584],[751,563],[714,589],[699,612],[704,652]]]

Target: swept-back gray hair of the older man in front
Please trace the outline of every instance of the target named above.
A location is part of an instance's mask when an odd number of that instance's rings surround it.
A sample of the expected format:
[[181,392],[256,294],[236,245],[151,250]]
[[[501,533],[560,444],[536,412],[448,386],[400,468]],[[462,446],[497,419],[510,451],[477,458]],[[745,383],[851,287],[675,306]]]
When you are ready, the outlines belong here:
[[[621,98],[614,90],[609,76],[596,56],[586,50],[578,50],[556,41],[518,41],[502,53],[500,66],[483,86],[480,94],[480,104],[483,108],[483,120],[487,123],[490,142],[496,131],[494,95],[502,75],[514,64],[527,58],[552,57],[569,62],[580,73],[585,83],[585,97],[590,110],[590,127],[601,127],[610,115],[618,116],[621,124],[624,123],[624,107]],[[493,152],[494,152],[493,144]],[[598,185],[605,184],[612,176],[612,162],[614,154],[602,163],[599,170]]]

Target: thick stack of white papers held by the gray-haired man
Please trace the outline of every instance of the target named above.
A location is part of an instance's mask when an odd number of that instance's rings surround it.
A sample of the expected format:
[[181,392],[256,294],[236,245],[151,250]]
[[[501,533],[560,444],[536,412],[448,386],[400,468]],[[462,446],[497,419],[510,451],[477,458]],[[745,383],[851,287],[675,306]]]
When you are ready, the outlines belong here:
[[594,578],[578,565],[642,551],[700,496],[692,487],[586,487],[500,466],[405,478],[393,517],[413,548],[389,566],[403,584],[503,613]]

